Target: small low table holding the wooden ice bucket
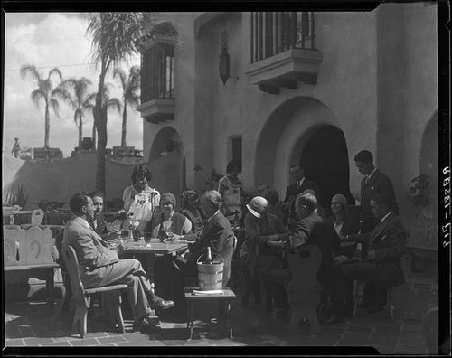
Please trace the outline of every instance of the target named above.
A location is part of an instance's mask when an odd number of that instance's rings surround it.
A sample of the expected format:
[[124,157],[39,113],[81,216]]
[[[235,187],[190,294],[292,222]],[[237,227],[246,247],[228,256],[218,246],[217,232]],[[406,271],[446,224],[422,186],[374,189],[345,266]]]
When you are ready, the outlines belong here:
[[195,295],[194,290],[199,290],[199,287],[186,287],[184,288],[185,300],[187,301],[187,330],[188,339],[190,341],[193,336],[193,303],[206,300],[226,301],[226,329],[230,338],[232,339],[232,327],[231,327],[231,299],[235,299],[234,291],[230,288],[224,287],[221,289],[221,294],[208,294],[208,295]]

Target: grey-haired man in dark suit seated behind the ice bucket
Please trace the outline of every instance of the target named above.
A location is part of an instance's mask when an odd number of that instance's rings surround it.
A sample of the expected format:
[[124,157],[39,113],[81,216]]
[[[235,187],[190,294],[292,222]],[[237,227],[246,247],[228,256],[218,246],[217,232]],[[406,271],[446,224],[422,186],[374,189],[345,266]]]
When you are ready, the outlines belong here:
[[210,246],[212,253],[219,254],[224,261],[222,277],[224,287],[228,284],[231,276],[234,231],[232,231],[230,222],[221,213],[221,206],[221,194],[216,190],[202,193],[201,209],[205,217],[208,218],[207,225],[201,234],[174,235],[175,240],[196,240],[193,244],[189,244],[189,251],[184,256],[174,258],[174,264],[185,276],[197,277],[196,260]]

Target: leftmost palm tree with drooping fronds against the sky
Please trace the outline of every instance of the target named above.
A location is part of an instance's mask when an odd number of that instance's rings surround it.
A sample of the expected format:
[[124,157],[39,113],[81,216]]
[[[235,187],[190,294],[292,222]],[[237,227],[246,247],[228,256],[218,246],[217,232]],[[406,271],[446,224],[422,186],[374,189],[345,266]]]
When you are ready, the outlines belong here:
[[42,77],[42,74],[36,69],[35,66],[30,64],[25,64],[21,67],[21,76],[25,80],[27,76],[31,77],[37,84],[37,89],[32,91],[32,100],[36,107],[39,108],[39,103],[43,100],[45,107],[45,127],[44,127],[44,149],[49,148],[49,133],[50,133],[50,108],[59,118],[58,110],[60,108],[60,103],[58,102],[57,96],[61,95],[61,88],[53,85],[52,77],[57,76],[61,82],[62,75],[60,69],[57,67],[49,71],[47,79]]

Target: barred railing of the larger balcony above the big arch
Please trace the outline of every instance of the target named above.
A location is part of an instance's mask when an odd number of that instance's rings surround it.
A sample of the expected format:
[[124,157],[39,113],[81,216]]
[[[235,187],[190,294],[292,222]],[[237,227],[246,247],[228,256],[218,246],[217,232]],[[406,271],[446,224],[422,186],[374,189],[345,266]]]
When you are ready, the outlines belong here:
[[313,12],[251,13],[251,63],[290,49],[315,50]]

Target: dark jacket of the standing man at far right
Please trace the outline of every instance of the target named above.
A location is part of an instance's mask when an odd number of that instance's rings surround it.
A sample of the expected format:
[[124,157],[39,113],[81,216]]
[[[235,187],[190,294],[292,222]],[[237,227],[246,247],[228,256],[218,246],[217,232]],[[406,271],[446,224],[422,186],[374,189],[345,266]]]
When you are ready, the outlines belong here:
[[383,174],[378,168],[372,174],[369,182],[366,184],[366,177],[361,181],[361,218],[372,217],[371,198],[376,194],[385,194],[391,197],[394,207],[392,210],[398,215],[399,205],[394,193],[391,179]]

